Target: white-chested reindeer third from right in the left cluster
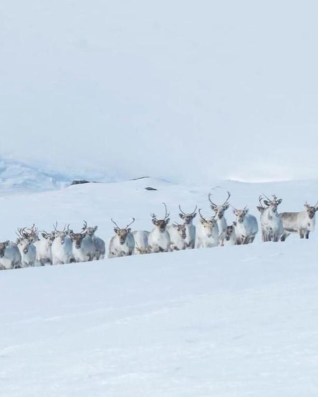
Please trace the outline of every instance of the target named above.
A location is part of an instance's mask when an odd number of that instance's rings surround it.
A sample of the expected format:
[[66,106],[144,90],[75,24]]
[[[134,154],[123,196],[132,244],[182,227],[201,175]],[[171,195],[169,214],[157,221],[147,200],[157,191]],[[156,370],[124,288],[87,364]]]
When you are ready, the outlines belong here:
[[54,227],[54,241],[52,243],[52,264],[53,265],[65,265],[74,262],[74,256],[72,251],[72,240],[66,233],[66,225],[64,229],[57,230],[58,223],[56,222]]

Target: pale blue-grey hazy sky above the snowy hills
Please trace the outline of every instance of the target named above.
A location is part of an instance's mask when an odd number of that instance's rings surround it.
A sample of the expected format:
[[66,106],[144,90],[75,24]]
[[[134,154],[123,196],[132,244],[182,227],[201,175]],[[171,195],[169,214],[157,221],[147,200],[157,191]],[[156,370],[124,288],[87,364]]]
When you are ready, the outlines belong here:
[[313,177],[316,1],[4,0],[0,154],[88,175]]

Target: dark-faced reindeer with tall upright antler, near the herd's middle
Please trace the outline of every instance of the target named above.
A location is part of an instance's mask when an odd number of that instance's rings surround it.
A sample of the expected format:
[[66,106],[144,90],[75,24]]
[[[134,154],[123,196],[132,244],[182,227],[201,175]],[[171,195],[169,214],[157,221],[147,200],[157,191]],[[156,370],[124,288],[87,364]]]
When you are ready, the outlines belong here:
[[148,237],[149,251],[152,253],[168,252],[170,251],[170,236],[167,231],[167,224],[169,223],[169,214],[164,203],[165,214],[163,219],[157,219],[155,214],[151,214],[152,222],[155,228],[150,232]]

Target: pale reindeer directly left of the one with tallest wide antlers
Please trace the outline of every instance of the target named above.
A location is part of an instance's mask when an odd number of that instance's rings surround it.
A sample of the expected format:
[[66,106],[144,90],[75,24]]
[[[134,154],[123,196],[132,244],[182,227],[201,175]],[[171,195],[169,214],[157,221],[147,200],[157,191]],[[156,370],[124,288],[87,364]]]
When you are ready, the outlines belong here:
[[195,248],[217,247],[219,243],[219,227],[214,216],[212,219],[206,219],[199,209],[200,223],[197,226]]

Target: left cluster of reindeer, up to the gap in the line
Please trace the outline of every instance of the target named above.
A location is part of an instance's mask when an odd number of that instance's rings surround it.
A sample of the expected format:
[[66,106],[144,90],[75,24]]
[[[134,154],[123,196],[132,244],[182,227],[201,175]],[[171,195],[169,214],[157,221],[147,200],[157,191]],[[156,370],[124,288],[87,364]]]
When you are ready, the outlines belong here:
[[95,235],[97,226],[87,227],[74,233],[70,225],[63,230],[53,225],[50,233],[31,228],[17,230],[16,243],[9,240],[0,243],[0,269],[17,267],[63,265],[104,259],[105,242]]

